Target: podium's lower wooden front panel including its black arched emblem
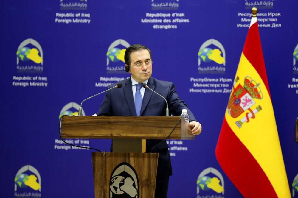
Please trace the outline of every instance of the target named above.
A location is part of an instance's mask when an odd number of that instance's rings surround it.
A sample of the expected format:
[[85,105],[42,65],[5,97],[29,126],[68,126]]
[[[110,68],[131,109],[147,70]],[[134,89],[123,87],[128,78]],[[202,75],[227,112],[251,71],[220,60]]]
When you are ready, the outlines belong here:
[[95,198],[154,198],[157,162],[158,153],[92,153]]

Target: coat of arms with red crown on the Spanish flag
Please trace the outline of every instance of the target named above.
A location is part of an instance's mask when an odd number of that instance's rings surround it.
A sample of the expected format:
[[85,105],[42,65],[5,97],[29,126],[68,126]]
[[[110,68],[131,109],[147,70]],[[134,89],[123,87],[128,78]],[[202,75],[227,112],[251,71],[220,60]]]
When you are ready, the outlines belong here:
[[227,111],[232,118],[238,118],[244,113],[240,117],[240,120],[235,122],[240,129],[244,123],[249,122],[250,119],[254,119],[256,117],[255,115],[262,110],[260,105],[254,109],[251,109],[251,107],[257,104],[258,100],[263,99],[263,93],[259,87],[260,83],[254,81],[251,77],[244,77],[243,85],[239,83],[236,86],[239,80],[237,76],[234,81],[233,93],[230,96]]

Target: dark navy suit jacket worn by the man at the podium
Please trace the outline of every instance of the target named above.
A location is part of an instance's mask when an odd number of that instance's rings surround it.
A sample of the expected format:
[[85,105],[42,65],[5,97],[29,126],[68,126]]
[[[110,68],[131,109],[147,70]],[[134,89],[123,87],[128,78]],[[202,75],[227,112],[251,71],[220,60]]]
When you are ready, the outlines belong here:
[[[97,113],[98,116],[136,116],[131,78],[120,82],[123,85],[122,88],[115,88],[106,93]],[[116,84],[109,85],[108,88],[114,87]],[[170,115],[180,116],[182,109],[187,109],[190,121],[196,121],[193,113],[188,109],[184,101],[179,98],[172,82],[160,81],[150,77],[147,85],[167,99]],[[166,102],[164,99],[153,93],[150,89],[146,89],[140,116],[165,116],[165,111]],[[162,140],[146,140],[146,152],[150,152],[152,147],[160,141]],[[167,143],[163,142],[159,144],[154,148],[153,152],[159,153],[157,179],[172,175]]]

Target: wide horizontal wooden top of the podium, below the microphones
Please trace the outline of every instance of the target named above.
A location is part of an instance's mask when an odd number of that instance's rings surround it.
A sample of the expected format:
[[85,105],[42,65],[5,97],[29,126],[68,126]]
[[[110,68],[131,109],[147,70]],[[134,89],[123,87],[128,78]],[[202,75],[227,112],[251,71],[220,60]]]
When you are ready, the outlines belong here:
[[[180,117],[176,116],[63,116],[62,138],[164,139]],[[194,140],[190,125],[181,119],[169,139]]]

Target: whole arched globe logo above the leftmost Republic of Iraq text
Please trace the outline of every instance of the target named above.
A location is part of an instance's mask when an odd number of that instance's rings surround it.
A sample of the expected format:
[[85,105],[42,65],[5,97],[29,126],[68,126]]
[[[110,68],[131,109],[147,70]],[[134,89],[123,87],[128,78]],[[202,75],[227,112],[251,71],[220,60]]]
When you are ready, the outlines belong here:
[[24,40],[16,52],[16,69],[19,73],[41,73],[43,71],[44,53],[40,44],[28,38]]

